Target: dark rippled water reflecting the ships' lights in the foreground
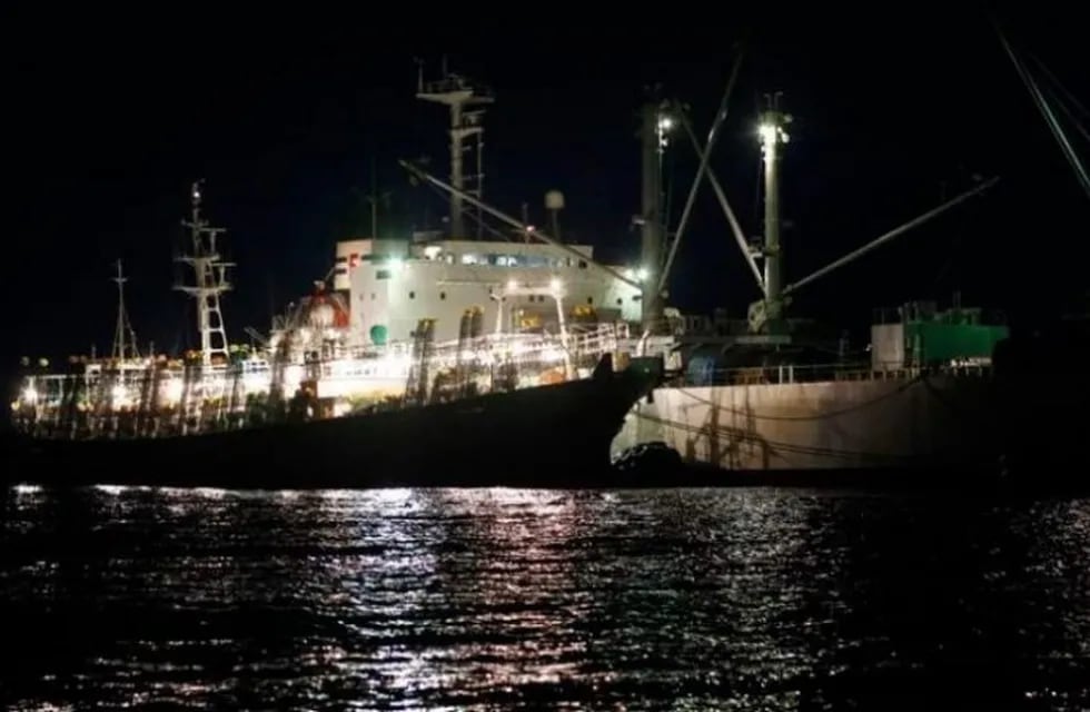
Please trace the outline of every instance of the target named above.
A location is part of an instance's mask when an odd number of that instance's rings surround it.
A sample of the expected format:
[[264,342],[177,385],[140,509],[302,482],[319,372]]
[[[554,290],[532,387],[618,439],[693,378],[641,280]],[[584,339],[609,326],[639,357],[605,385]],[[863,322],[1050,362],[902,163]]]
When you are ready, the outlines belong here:
[[1090,502],[9,491],[10,709],[1090,706]]

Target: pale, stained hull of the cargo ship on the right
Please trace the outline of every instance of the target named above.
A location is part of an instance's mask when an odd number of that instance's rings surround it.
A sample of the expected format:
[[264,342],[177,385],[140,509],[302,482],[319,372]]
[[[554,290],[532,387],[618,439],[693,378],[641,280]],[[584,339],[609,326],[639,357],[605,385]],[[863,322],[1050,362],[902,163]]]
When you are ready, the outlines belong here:
[[943,374],[657,388],[630,412],[614,452],[658,441],[733,471],[980,465],[995,452],[990,384]]

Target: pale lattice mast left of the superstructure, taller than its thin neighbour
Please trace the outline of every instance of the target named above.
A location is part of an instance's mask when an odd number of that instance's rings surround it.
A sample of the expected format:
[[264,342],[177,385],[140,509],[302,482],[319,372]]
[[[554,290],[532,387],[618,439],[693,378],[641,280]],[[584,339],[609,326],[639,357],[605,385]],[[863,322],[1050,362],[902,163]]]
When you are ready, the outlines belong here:
[[235,265],[224,261],[216,247],[216,238],[225,228],[209,227],[208,221],[200,216],[200,182],[192,184],[190,219],[181,222],[189,228],[192,253],[176,258],[176,261],[192,267],[194,283],[175,285],[175,289],[197,299],[201,365],[208,367],[214,356],[227,358],[227,332],[224,328],[219,296],[231,288],[227,281],[227,268]]

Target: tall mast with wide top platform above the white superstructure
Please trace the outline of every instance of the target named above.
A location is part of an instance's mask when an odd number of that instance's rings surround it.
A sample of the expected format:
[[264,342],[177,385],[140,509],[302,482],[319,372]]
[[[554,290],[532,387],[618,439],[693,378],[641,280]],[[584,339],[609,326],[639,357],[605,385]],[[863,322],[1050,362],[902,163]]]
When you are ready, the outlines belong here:
[[[443,62],[443,77],[436,81],[424,81],[424,67],[420,65],[417,77],[416,98],[422,101],[443,103],[450,108],[450,185],[478,200],[484,198],[484,106],[495,101],[492,91],[465,77],[447,71]],[[467,141],[469,142],[467,146]],[[475,154],[476,172],[465,175],[465,157]],[[466,237],[463,199],[450,195],[450,237]],[[483,237],[483,221],[478,212],[477,239]]]

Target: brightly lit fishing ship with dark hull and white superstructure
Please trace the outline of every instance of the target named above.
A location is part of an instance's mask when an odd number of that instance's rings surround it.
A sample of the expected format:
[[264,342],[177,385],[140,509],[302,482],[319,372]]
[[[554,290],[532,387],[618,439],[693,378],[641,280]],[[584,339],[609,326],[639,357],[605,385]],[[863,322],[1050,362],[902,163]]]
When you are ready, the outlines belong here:
[[[235,268],[221,257],[225,230],[195,182],[178,258],[192,280],[176,289],[197,303],[200,347],[138,348],[118,261],[110,356],[60,369],[26,359],[7,476],[258,488],[602,482],[625,413],[663,373],[628,337],[640,284],[526,220],[518,241],[467,238],[462,196],[479,204],[480,187],[463,192],[473,189],[462,142],[479,144],[480,110],[469,108],[490,93],[446,72],[422,79],[418,97],[453,107],[449,237],[338,243],[327,278],[267,334],[248,329],[242,347],[221,308]],[[552,191],[546,206],[555,226],[563,197]]]

